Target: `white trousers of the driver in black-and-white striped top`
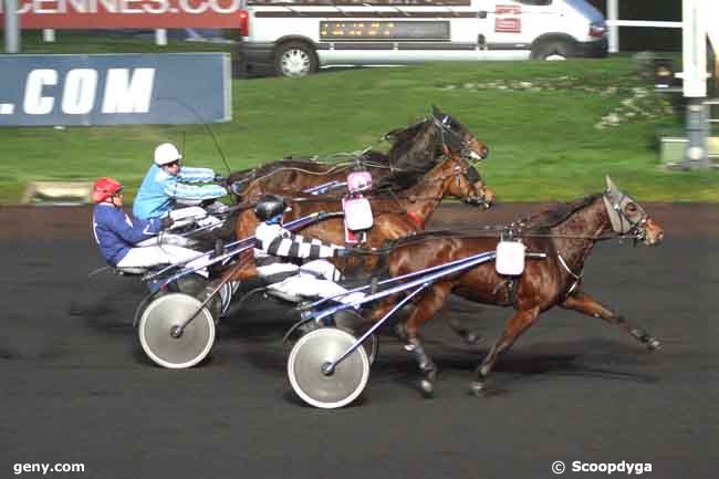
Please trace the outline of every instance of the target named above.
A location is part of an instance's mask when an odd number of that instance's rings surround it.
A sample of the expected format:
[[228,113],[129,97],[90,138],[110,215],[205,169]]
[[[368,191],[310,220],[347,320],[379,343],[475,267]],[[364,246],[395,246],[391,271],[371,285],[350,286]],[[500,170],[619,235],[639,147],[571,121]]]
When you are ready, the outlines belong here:
[[[317,278],[317,274],[322,278]],[[298,274],[274,283],[270,288],[295,296],[335,298],[345,304],[359,301],[365,296],[361,292],[344,294],[347,292],[346,289],[324,278],[338,279],[340,272],[331,262],[315,260],[302,264]]]

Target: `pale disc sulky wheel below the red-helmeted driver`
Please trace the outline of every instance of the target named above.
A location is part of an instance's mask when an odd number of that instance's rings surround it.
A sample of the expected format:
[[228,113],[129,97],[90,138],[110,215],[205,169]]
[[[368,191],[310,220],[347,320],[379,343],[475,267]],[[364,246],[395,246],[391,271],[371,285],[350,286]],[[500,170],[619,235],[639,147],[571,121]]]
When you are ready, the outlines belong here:
[[[169,293],[147,305],[139,320],[138,335],[145,354],[155,364],[183,369],[207,357],[215,343],[215,321],[201,304],[187,294]],[[178,331],[195,313],[195,319]]]

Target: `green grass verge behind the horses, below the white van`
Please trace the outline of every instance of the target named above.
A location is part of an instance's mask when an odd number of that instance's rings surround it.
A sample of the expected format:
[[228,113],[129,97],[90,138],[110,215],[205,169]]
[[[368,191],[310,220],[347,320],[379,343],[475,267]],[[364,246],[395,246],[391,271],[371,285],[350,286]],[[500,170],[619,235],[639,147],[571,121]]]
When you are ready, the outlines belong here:
[[[60,32],[58,46],[35,49],[158,49],[148,41],[117,39],[87,46],[82,35],[74,43],[65,37]],[[198,44],[178,45],[170,49],[200,50]],[[480,173],[502,201],[574,198],[601,190],[605,174],[645,201],[719,201],[719,173],[667,171],[659,164],[658,132],[681,132],[684,117],[668,97],[649,91],[628,55],[340,70],[299,81],[235,80],[232,96],[233,119],[209,126],[219,149],[205,125],[2,128],[0,202],[17,202],[33,179],[115,176],[132,194],[154,146],[165,140],[184,145],[186,164],[219,171],[226,170],[222,155],[231,169],[241,169],[290,154],[359,150],[427,115],[433,104],[488,144],[491,153]]]

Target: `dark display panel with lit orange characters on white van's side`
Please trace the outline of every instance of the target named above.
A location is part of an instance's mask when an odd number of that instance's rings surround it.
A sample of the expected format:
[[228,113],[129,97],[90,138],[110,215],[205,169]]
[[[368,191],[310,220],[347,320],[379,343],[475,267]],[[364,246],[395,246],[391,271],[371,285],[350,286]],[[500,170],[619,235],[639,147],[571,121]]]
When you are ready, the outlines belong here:
[[320,22],[320,40],[411,41],[449,40],[448,21]]

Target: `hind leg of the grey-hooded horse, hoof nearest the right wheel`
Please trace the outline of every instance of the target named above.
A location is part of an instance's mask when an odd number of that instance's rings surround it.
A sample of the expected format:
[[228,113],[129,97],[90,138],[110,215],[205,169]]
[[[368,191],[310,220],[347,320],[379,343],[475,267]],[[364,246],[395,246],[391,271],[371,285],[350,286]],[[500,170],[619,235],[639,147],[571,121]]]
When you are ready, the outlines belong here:
[[450,290],[450,284],[437,284],[431,288],[415,305],[414,311],[405,322],[405,333],[407,335],[405,348],[413,352],[417,358],[419,371],[424,375],[424,378],[419,382],[419,388],[425,397],[431,397],[435,392],[437,365],[427,355],[419,341],[419,326],[439,311],[447,301]]

